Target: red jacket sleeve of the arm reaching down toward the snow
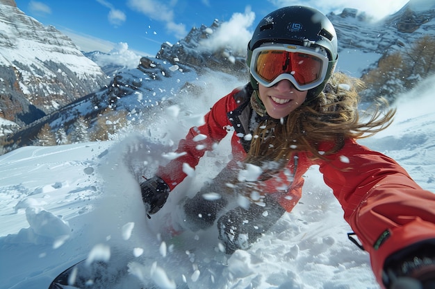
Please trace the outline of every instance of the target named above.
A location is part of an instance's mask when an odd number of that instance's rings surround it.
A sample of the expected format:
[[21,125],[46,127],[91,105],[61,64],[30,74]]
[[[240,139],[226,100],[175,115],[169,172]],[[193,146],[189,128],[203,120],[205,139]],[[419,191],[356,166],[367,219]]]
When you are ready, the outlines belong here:
[[227,135],[227,128],[230,125],[227,112],[236,108],[233,98],[236,92],[235,89],[218,100],[210,112],[204,116],[203,125],[190,128],[186,138],[181,139],[176,150],[177,154],[181,155],[180,157],[158,168],[156,175],[166,182],[171,191],[187,176],[183,171],[183,166],[186,164],[190,168],[195,168],[206,150],[213,150],[213,145]]

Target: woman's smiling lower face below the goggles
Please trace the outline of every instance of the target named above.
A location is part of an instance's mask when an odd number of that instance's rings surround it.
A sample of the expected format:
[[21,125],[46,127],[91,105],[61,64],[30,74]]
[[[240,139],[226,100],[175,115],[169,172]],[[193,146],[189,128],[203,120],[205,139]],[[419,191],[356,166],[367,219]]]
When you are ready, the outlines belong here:
[[281,119],[304,103],[308,91],[299,91],[289,80],[281,80],[272,87],[258,84],[258,92],[269,116]]

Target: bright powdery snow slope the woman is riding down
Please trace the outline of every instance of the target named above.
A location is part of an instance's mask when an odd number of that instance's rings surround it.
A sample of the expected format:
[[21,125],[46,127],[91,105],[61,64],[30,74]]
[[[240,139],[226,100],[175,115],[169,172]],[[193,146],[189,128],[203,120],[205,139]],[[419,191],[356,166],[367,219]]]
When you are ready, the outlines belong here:
[[[395,157],[430,191],[435,191],[434,80],[400,98],[390,128],[361,141]],[[202,159],[196,174],[188,171],[190,177],[161,212],[151,220],[145,217],[137,179],[167,161],[171,156],[164,152],[228,92],[211,79],[204,85],[218,94],[181,95],[172,107],[155,107],[146,128],[131,128],[118,141],[26,147],[1,156],[0,288],[47,288],[90,252],[95,259],[107,259],[110,253],[112,259],[131,262],[134,282],[140,283],[135,276],[142,276],[160,288],[174,288],[173,280],[187,282],[191,289],[379,288],[367,254],[347,240],[350,227],[316,168],[306,175],[304,195],[294,211],[246,252],[228,259],[213,229],[183,234],[175,246],[159,238],[167,213],[177,213],[177,201],[195,193],[229,155],[225,140]]]

